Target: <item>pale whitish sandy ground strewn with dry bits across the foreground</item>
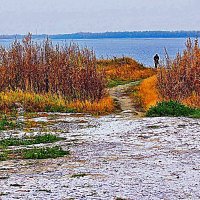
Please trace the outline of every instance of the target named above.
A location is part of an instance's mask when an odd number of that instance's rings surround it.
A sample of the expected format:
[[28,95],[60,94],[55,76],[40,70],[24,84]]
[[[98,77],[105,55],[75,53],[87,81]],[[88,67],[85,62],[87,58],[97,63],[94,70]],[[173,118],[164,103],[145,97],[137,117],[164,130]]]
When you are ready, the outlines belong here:
[[49,132],[66,139],[45,145],[61,145],[71,155],[0,162],[2,200],[200,199],[198,119],[54,114],[32,120],[51,121]]

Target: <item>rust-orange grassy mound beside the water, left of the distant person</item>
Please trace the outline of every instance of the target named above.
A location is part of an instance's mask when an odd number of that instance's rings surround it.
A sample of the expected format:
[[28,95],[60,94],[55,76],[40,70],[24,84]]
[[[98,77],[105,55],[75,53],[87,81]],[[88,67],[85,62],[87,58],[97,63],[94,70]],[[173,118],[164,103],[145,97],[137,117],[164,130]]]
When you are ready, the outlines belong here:
[[105,69],[108,80],[136,81],[154,75],[154,69],[146,68],[127,57],[100,60],[98,65]]

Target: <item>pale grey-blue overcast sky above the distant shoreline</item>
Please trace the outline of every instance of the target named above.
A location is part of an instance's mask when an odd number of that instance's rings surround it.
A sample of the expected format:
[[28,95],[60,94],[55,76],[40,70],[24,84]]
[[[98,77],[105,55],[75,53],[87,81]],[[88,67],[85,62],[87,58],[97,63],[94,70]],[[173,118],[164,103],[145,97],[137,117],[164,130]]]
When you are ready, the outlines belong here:
[[200,0],[0,0],[0,35],[200,30]]

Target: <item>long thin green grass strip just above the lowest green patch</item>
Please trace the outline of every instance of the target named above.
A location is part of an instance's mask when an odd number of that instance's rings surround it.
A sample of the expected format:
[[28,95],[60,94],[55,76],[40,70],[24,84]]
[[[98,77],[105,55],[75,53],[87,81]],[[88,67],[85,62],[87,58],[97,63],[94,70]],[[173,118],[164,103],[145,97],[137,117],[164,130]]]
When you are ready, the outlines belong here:
[[35,137],[26,137],[23,139],[20,138],[8,138],[0,140],[0,146],[20,146],[20,145],[32,145],[32,144],[41,144],[41,143],[53,143],[63,140],[61,137],[57,137],[52,134],[38,135]]

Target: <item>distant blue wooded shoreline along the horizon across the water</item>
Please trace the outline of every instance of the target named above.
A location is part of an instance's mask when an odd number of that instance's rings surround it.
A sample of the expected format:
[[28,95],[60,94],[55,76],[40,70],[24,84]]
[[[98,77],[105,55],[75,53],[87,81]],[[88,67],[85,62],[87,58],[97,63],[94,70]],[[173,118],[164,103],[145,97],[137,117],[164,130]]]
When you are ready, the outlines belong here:
[[[0,39],[22,39],[25,35],[0,35]],[[72,34],[38,34],[33,39],[143,39],[143,38],[195,38],[200,37],[200,31],[133,31],[133,32],[104,32],[104,33],[72,33]]]

